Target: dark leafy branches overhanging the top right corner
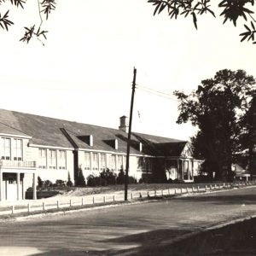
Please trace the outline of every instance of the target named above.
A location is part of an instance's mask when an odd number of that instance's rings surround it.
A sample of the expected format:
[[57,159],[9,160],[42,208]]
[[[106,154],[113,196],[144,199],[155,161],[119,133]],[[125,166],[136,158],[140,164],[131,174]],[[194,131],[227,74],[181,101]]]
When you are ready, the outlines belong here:
[[[211,14],[215,17],[210,3],[216,3],[217,0],[148,0],[148,3],[154,5],[154,15],[160,14],[163,10],[167,10],[167,14],[171,19],[177,19],[178,16],[192,17],[194,26],[197,29],[198,15]],[[256,44],[254,34],[256,33],[256,20],[253,18],[254,0],[222,0],[218,1],[218,8],[222,10],[220,16],[224,17],[224,23],[227,20],[233,22],[236,26],[238,18],[247,21],[244,24],[246,31],[240,34],[241,41],[247,39]]]

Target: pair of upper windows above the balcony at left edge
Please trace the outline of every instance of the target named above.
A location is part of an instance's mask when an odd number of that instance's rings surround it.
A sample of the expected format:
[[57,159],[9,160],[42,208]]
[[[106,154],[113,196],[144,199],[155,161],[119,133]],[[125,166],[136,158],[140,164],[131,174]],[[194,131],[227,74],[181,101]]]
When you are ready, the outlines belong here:
[[1,137],[0,152],[3,160],[23,160],[23,143],[21,139]]

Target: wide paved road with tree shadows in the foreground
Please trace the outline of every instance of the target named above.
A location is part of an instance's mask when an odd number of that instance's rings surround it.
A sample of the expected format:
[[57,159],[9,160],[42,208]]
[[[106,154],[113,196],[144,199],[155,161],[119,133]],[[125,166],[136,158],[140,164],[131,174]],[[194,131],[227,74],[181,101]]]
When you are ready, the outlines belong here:
[[177,236],[253,214],[256,188],[13,221],[0,224],[0,255],[158,255]]

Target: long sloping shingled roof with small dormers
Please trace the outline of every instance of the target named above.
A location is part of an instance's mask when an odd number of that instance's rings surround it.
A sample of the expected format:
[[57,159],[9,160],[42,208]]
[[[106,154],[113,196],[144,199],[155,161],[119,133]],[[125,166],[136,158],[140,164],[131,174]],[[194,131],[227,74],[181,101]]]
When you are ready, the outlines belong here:
[[[74,143],[68,140],[63,128]],[[0,109],[0,133],[26,135],[32,137],[30,143],[56,148],[78,148],[126,152],[127,133],[97,125],[88,125],[63,119],[20,113]],[[84,137],[93,136],[93,146]],[[113,141],[118,140],[118,149],[114,149]],[[139,143],[143,143],[143,152],[139,151]],[[187,142],[167,137],[157,137],[143,133],[131,134],[131,154],[179,155]]]

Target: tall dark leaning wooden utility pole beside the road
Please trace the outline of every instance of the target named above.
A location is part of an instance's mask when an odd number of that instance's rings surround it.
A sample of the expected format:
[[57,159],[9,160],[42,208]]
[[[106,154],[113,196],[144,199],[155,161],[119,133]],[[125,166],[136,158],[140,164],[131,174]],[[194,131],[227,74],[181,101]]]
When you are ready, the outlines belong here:
[[126,152],[126,168],[125,168],[125,201],[128,201],[128,181],[129,181],[129,160],[130,160],[130,145],[131,145],[131,122],[132,122],[132,110],[134,102],[134,93],[135,93],[135,84],[136,84],[136,74],[137,69],[133,68],[133,81],[132,81],[132,90],[131,90],[131,108],[130,108],[130,118],[129,118],[129,130],[128,130],[128,139],[127,139],[127,152]]

